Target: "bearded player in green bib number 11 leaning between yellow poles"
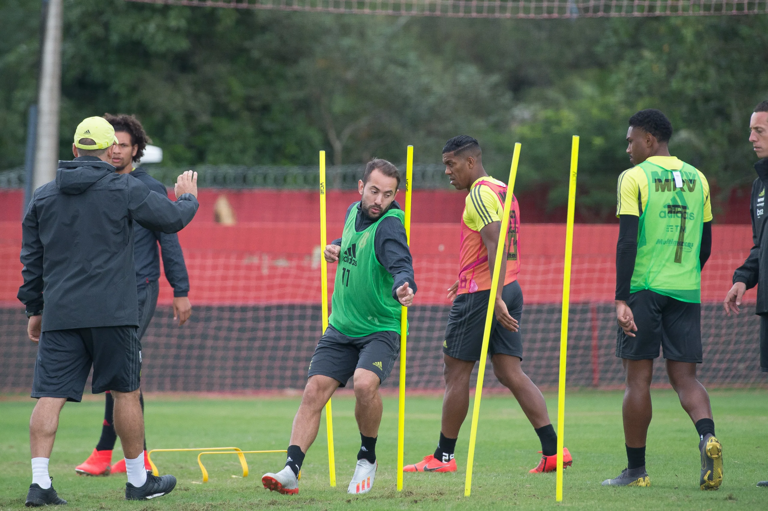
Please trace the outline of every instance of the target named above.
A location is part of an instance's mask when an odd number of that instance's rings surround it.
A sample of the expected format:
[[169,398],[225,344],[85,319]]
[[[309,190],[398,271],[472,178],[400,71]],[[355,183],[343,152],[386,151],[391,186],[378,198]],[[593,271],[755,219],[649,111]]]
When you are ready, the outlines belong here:
[[329,326],[317,343],[299,411],[293,419],[286,466],[266,473],[263,486],[299,493],[298,475],[317,437],[323,407],[353,378],[360,450],[348,493],[367,493],[376,477],[376,438],[382,419],[379,386],[400,351],[402,305],[413,302],[416,284],[405,216],[395,201],[397,167],[374,159],[358,183],[361,199],[346,211],[341,238],[326,246],[327,262],[339,262]]

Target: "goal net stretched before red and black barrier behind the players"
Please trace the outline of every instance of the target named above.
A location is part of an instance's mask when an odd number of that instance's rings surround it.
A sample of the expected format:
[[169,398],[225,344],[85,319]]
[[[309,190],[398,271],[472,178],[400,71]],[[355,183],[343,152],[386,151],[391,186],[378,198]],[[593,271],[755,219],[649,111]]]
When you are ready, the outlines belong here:
[[[210,202],[210,201],[209,201]],[[315,207],[314,205],[310,205]],[[343,208],[343,209],[346,209]],[[343,218],[339,212],[329,218]],[[338,214],[337,214],[338,213]],[[206,213],[207,214],[207,213]],[[174,323],[172,292],[161,277],[161,297],[142,340],[142,387],[147,391],[263,392],[303,388],[321,334],[320,247],[316,223],[240,223],[225,227],[200,222],[180,232],[190,273],[194,314]],[[525,221],[525,219],[524,219]],[[329,240],[339,236],[329,224]],[[0,391],[28,392],[36,347],[26,338],[26,318],[15,301],[21,282],[18,223],[0,223]],[[615,225],[577,225],[568,336],[568,385],[621,387],[615,357]],[[446,289],[458,273],[458,226],[412,226],[415,305],[409,309],[407,387],[442,391],[442,341],[450,303]],[[521,226],[520,283],[525,296],[521,320],[523,368],[543,388],[558,383],[565,227]],[[751,245],[750,226],[714,226],[713,253],[703,271],[703,364],[699,375],[713,387],[756,386],[760,373],[760,321],[754,304],[728,318],[722,299],[733,269]],[[329,265],[333,292],[336,265]],[[746,295],[754,298],[754,291]],[[657,364],[662,364],[658,359]],[[397,387],[396,364],[385,388]],[[502,391],[488,364],[485,388]],[[657,367],[655,384],[667,384]]]

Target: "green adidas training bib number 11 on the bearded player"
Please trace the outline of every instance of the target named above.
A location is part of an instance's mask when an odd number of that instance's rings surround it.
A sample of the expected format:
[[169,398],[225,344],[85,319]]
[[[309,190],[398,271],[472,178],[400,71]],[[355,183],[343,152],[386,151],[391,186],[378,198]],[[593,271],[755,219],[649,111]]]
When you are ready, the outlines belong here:
[[347,216],[341,236],[339,267],[331,297],[328,322],[344,335],[365,337],[376,331],[400,332],[401,305],[392,298],[395,279],[376,259],[374,239],[388,216],[404,222],[402,209],[389,209],[375,223],[356,232],[357,203]]

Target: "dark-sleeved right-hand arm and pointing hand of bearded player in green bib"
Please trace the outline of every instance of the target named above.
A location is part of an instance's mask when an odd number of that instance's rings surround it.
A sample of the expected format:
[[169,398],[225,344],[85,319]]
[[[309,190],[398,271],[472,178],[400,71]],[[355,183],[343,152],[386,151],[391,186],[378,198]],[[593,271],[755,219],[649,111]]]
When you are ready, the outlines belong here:
[[408,248],[406,228],[402,222],[394,216],[388,216],[379,222],[373,246],[376,250],[376,259],[395,279],[395,283],[392,285],[392,298],[397,300],[397,288],[406,282],[415,293],[413,261],[411,251]]

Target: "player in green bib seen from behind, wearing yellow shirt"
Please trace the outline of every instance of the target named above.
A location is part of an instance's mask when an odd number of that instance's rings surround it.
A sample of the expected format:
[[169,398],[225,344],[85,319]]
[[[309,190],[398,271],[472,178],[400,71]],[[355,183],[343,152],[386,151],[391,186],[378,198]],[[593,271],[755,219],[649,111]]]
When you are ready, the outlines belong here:
[[723,447],[707,390],[697,380],[701,349],[701,269],[712,247],[710,189],[703,173],[670,156],[672,124],[659,110],[629,120],[634,167],[619,176],[616,246],[616,356],[626,371],[624,442],[627,468],[604,486],[650,486],[645,443],[654,358],[699,434],[700,489],[723,482]]

